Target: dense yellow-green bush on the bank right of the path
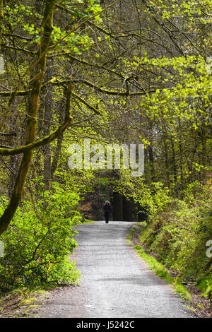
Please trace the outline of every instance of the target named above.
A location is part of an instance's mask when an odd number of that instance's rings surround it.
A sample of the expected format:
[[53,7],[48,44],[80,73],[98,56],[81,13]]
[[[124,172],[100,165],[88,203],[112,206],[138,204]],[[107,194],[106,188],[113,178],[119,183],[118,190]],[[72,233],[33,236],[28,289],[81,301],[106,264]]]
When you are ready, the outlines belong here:
[[208,186],[188,186],[184,200],[172,199],[152,216],[141,234],[141,243],[179,278],[212,287],[211,259],[206,242],[212,239],[212,213]]

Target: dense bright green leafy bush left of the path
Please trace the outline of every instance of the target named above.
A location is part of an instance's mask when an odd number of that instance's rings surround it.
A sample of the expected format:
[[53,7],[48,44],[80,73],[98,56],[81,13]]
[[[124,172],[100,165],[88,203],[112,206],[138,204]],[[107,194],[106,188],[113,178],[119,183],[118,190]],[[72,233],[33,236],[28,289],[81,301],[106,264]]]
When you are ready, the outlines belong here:
[[[1,235],[1,290],[41,283],[76,283],[79,273],[69,254],[76,247],[72,226],[81,220],[79,196],[59,186],[42,193],[36,206],[25,201],[8,230]],[[0,214],[4,208],[1,197]]]

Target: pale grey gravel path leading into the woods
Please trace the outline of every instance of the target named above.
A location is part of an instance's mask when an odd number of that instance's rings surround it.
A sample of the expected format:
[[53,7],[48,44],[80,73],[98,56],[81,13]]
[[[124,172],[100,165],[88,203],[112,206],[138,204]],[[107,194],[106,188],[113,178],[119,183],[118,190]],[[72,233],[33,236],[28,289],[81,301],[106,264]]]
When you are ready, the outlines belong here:
[[40,317],[192,317],[185,303],[129,247],[133,223],[78,225],[80,287],[65,287],[42,303]]

